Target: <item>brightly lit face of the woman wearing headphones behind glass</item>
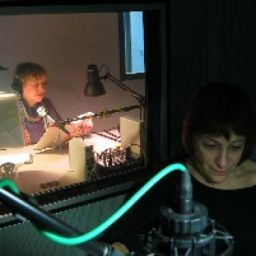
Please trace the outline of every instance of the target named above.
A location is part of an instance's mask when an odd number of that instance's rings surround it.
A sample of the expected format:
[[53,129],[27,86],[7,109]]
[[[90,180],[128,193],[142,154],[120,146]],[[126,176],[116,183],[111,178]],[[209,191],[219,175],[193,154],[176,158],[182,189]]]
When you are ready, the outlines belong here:
[[29,106],[34,106],[37,102],[42,102],[46,92],[46,76],[38,78],[30,77],[23,81],[22,97]]

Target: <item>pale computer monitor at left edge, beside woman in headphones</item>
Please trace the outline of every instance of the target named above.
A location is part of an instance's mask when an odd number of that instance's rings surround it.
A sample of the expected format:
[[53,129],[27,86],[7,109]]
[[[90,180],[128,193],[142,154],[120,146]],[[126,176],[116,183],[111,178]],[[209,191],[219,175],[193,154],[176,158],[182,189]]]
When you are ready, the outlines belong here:
[[0,149],[26,146],[19,95],[0,92]]

